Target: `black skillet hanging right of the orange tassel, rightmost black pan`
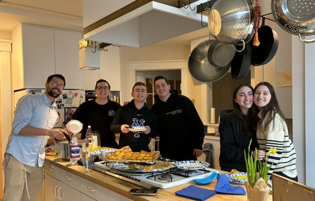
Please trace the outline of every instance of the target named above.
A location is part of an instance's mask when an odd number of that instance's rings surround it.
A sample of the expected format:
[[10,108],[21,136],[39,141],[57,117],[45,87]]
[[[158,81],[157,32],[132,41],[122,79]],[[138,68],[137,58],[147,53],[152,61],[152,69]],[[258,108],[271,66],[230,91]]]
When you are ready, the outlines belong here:
[[251,64],[253,66],[265,65],[276,55],[279,45],[278,34],[265,25],[265,18],[262,18],[261,27],[258,29],[259,46],[252,46]]

